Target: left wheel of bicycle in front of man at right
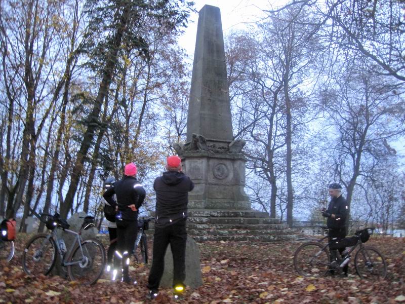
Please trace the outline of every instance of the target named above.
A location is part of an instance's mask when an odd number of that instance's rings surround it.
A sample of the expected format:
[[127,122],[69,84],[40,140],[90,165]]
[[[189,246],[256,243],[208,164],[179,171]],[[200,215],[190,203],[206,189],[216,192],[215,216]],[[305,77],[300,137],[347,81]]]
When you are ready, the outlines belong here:
[[329,270],[329,265],[329,253],[319,243],[302,244],[294,253],[294,268],[301,276],[324,276]]

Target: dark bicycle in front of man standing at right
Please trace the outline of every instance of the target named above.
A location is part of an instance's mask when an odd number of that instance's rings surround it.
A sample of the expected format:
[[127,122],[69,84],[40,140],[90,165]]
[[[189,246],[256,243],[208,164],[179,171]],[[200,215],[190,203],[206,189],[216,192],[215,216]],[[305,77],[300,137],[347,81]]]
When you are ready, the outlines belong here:
[[[328,227],[321,227],[328,231]],[[366,228],[355,232],[355,236],[337,241],[336,238],[325,244],[322,239],[310,239],[302,244],[294,253],[294,267],[304,277],[321,277],[333,270],[342,273],[343,267],[349,262],[350,255],[358,247],[354,256],[354,267],[357,274],[364,279],[384,279],[387,275],[387,264],[383,255],[375,248],[364,246],[373,234],[374,228]],[[299,239],[304,240],[304,239]],[[338,249],[344,248],[341,257]]]

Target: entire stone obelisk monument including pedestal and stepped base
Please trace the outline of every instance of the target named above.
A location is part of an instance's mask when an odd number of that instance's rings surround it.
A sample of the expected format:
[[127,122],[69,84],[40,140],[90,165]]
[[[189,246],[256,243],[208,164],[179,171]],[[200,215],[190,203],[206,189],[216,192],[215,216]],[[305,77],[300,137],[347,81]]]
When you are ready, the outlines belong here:
[[189,194],[188,232],[197,241],[279,241],[291,239],[286,225],[252,210],[244,191],[245,141],[232,133],[221,13],[199,11],[187,141],[173,144],[195,187]]

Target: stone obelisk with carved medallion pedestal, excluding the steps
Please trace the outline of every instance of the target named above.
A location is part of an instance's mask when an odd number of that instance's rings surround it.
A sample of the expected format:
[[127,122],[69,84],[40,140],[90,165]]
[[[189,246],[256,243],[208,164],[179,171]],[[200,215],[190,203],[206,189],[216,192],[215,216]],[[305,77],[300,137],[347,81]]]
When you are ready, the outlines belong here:
[[195,183],[191,209],[250,210],[244,191],[242,140],[234,140],[220,10],[199,12],[187,119],[187,142],[177,147]]

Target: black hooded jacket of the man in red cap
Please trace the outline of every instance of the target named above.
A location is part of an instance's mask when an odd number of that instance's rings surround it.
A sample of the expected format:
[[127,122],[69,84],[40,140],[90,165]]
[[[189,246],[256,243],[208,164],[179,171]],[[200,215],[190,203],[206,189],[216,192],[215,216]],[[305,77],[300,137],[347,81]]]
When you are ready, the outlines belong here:
[[153,183],[156,192],[156,226],[166,226],[187,217],[188,193],[194,183],[183,172],[168,171]]

